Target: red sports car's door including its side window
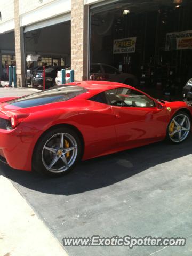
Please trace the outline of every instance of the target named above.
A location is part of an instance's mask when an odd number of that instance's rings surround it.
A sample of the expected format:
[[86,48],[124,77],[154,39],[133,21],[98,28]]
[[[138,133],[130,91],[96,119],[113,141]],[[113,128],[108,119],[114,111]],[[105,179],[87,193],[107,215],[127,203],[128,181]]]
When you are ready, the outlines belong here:
[[166,135],[168,112],[140,91],[117,88],[105,92],[116,117],[117,145],[147,144]]

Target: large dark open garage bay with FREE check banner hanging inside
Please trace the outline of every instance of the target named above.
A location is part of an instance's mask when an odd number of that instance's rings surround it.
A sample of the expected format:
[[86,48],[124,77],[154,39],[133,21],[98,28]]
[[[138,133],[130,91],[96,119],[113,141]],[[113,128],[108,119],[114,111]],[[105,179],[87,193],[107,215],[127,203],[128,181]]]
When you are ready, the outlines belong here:
[[90,74],[131,85],[134,76],[137,87],[154,97],[182,97],[192,77],[191,11],[189,0],[123,0],[93,6]]

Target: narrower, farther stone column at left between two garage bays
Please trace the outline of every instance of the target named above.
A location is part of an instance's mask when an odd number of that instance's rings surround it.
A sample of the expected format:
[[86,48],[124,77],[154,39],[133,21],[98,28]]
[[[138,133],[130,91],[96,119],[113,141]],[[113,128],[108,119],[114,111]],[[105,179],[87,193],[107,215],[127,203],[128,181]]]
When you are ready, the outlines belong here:
[[19,0],[14,0],[14,22],[17,87],[26,87],[24,34],[23,27],[20,27]]

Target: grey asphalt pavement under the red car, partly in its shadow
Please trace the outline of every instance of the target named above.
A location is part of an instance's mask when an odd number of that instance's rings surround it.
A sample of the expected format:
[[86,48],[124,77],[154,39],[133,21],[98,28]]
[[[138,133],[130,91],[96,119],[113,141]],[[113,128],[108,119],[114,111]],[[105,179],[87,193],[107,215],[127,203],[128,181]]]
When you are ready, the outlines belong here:
[[1,164],[21,195],[63,237],[185,237],[185,247],[67,247],[69,255],[191,255],[192,138],[80,163],[62,178]]

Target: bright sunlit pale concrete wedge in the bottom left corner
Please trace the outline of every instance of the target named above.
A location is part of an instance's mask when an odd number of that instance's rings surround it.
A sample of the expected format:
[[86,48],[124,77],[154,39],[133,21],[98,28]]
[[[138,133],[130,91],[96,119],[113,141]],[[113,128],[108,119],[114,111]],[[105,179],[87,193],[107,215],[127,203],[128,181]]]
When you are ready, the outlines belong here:
[[67,256],[11,181],[0,172],[0,255]]

